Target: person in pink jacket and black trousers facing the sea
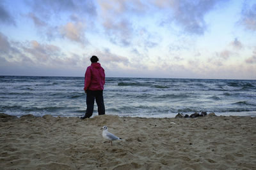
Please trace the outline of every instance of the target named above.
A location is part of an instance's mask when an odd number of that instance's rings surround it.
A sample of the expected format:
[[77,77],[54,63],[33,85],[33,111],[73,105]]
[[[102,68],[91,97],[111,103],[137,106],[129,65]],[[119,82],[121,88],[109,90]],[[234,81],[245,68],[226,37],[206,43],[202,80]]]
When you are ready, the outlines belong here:
[[84,118],[92,117],[94,101],[96,100],[99,115],[105,115],[103,90],[105,84],[105,72],[98,62],[97,56],[91,57],[91,66],[88,66],[84,75],[84,92],[86,93],[86,113]]

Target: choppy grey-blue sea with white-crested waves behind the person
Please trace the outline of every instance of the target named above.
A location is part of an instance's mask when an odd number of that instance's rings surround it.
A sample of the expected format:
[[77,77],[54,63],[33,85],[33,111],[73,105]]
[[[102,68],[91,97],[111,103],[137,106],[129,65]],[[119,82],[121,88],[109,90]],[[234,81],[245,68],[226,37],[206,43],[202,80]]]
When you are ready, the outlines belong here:
[[[0,76],[0,113],[82,117],[83,87],[83,77]],[[256,117],[256,80],[108,77],[104,103],[106,114],[120,117],[172,118],[202,111]]]

